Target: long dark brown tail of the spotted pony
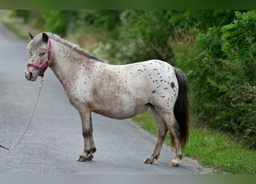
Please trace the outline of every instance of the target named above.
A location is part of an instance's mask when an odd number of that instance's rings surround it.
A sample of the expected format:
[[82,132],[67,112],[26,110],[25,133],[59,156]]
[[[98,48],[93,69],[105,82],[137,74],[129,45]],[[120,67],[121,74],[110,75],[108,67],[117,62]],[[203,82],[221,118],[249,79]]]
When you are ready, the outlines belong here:
[[[184,73],[178,68],[175,68],[174,72],[179,85],[178,97],[174,105],[174,117],[179,125],[183,149],[189,138],[189,87]],[[173,136],[171,136],[171,143],[174,144]]]

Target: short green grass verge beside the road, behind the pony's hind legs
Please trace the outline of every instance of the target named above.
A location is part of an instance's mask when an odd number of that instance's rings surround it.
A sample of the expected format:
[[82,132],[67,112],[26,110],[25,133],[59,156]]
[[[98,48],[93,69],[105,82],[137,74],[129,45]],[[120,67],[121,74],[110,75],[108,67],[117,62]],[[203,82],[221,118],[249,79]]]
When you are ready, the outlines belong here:
[[[133,118],[143,129],[156,135],[154,117],[150,110]],[[167,134],[165,144],[170,145]],[[230,140],[227,135],[207,128],[190,128],[184,156],[196,158],[204,167],[213,168],[216,173],[256,174],[256,151]]]

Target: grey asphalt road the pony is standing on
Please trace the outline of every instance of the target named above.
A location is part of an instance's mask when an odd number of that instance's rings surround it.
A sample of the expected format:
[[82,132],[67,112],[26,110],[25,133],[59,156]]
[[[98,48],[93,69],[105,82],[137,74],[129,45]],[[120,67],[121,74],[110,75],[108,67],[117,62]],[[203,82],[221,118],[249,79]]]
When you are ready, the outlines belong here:
[[[11,147],[26,127],[40,80],[28,82],[27,43],[0,22],[0,144]],[[97,152],[91,162],[76,162],[83,150],[81,120],[51,69],[24,139],[12,151],[0,149],[0,174],[200,174],[188,159],[169,167],[174,152],[163,147],[155,164],[143,164],[156,139],[131,120],[93,114]],[[193,164],[193,163],[192,163]]]

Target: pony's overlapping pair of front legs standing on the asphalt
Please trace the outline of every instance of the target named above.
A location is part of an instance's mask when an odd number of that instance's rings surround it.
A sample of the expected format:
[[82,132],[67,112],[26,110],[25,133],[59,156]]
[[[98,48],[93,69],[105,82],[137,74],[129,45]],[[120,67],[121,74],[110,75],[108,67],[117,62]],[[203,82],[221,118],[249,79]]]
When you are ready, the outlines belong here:
[[83,139],[85,140],[85,148],[77,161],[85,162],[93,159],[93,153],[96,151],[93,140],[93,125],[91,122],[91,111],[85,107],[79,108],[79,114],[82,120]]

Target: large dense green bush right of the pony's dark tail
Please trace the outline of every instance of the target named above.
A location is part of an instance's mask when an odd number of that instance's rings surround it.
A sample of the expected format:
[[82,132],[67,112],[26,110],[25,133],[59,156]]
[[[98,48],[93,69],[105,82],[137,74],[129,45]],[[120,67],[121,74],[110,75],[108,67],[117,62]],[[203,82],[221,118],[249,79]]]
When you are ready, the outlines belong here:
[[256,13],[235,16],[231,24],[203,34],[188,59],[179,53],[177,60],[187,72],[194,113],[256,148]]

